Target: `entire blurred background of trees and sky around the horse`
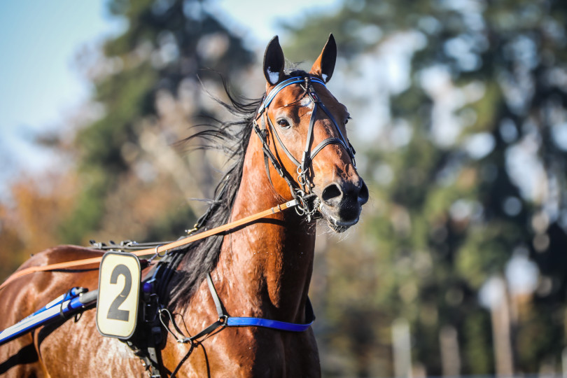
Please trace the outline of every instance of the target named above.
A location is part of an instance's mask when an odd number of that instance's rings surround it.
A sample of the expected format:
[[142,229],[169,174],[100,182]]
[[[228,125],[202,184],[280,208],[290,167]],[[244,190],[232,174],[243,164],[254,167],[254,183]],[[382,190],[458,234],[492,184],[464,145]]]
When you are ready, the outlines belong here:
[[[0,4],[0,278],[56,244],[175,239],[223,158],[176,144],[207,92],[261,96],[279,34],[330,90],[371,200],[321,229],[325,377],[567,371],[567,2]],[[564,376],[564,375],[563,375]]]

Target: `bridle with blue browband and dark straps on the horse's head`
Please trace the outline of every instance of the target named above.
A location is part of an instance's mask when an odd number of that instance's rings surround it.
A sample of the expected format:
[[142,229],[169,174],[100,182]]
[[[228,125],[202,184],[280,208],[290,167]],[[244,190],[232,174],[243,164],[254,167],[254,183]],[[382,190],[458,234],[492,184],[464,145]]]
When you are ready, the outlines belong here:
[[[307,139],[305,141],[305,148],[301,157],[301,162],[297,160],[293,156],[293,154],[290,153],[286,145],[283,144],[276,130],[276,127],[274,127],[272,120],[269,118],[269,115],[267,114],[267,109],[269,108],[269,105],[272,104],[272,101],[274,101],[276,95],[288,85],[293,85],[298,83],[300,85],[303,84],[301,85],[301,87],[309,95],[309,99],[313,104],[313,110],[311,111],[311,118],[309,119],[309,129],[307,130]],[[353,165],[356,167],[356,161],[354,159],[354,154],[356,152],[354,151],[353,146],[349,142],[349,139],[346,139],[346,137],[344,137],[344,135],[342,134],[335,118],[333,118],[332,114],[327,109],[325,104],[323,104],[323,102],[321,102],[321,99],[319,99],[314,88],[314,83],[321,84],[323,85],[323,87],[326,87],[323,80],[311,76],[295,76],[293,78],[288,78],[287,80],[283,80],[281,83],[276,85],[268,94],[266,94],[265,98],[262,101],[262,104],[260,104],[260,108],[258,109],[258,114],[252,123],[255,133],[258,135],[258,137],[260,137],[260,141],[262,141],[262,151],[264,152],[265,168],[270,183],[272,183],[272,178],[269,174],[268,160],[269,162],[272,163],[274,169],[276,169],[276,172],[278,172],[279,176],[281,176],[284,180],[286,180],[286,183],[290,188],[290,193],[293,196],[293,198],[295,198],[300,202],[300,204],[297,207],[295,207],[295,211],[297,211],[297,214],[299,214],[300,216],[307,216],[308,222],[311,221],[311,218],[314,218],[314,216],[316,216],[316,212],[317,212],[316,206],[314,205],[310,206],[308,200],[308,197],[315,197],[315,195],[311,193],[311,188],[314,187],[314,184],[312,183],[309,174],[309,167],[311,167],[311,163],[315,158],[315,156],[318,153],[320,153],[321,150],[325,148],[325,146],[328,146],[329,144],[339,144],[340,146],[344,147],[346,153],[349,154],[349,157],[351,158]],[[311,150],[311,143],[313,141],[314,127],[316,120],[315,118],[316,118],[317,110],[319,108],[323,110],[323,112],[332,121],[332,124],[335,125],[335,130],[337,130],[339,137],[331,137],[324,139],[315,148]],[[261,127],[258,126],[258,120],[260,120]],[[272,129],[272,134],[274,134],[275,136],[274,139],[278,142],[283,152],[286,153],[288,158],[297,167],[297,169],[295,170],[295,173],[297,174],[295,181],[293,180],[289,172],[287,172],[286,169],[283,167],[283,164],[281,164],[281,160],[279,160],[279,158],[276,158],[276,155],[274,155],[274,153],[272,153],[272,150],[270,150],[269,139],[267,137],[268,131],[266,125],[269,125],[269,127]],[[274,186],[273,183],[272,186]]]

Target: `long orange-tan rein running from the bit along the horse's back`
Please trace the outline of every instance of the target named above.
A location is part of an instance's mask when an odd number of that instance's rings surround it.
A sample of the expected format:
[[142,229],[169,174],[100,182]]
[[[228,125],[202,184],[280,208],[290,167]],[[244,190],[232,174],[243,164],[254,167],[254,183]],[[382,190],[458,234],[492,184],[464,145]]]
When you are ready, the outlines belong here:
[[[279,213],[280,211],[283,211],[283,210],[288,209],[290,207],[295,207],[297,205],[297,203],[298,203],[297,200],[291,200],[289,202],[286,202],[285,204],[279,204],[278,206],[272,207],[271,209],[261,211],[258,214],[253,214],[251,216],[247,216],[246,218],[242,218],[239,221],[227,223],[227,224],[221,225],[217,228],[212,228],[211,230],[201,232],[201,233],[194,235],[192,237],[186,237],[185,239],[180,239],[180,240],[177,240],[177,241],[173,241],[172,243],[169,243],[169,244],[164,244],[162,246],[158,246],[158,248],[142,249],[141,251],[136,251],[133,254],[137,255],[139,257],[139,256],[143,256],[143,255],[150,255],[150,254],[162,253],[162,252],[165,252],[165,251],[169,251],[170,249],[193,243],[193,241],[204,239],[206,237],[210,237],[212,235],[219,234],[223,231],[232,230],[233,228],[237,228],[241,225],[246,225],[246,223],[251,223],[251,222],[256,221],[260,218],[265,218],[265,217],[270,216],[272,214]],[[6,281],[4,281],[0,285],[0,290],[4,286],[6,286],[8,283],[10,283],[11,281],[18,279],[21,276],[25,276],[27,274],[31,274],[31,273],[35,273],[35,272],[47,272],[47,271],[50,271],[50,270],[64,269],[64,268],[69,268],[69,267],[80,267],[80,266],[83,266],[83,265],[94,264],[96,262],[100,262],[101,260],[102,260],[102,256],[97,257],[97,258],[87,258],[87,259],[84,259],[84,260],[58,262],[57,264],[43,265],[43,266],[40,266],[40,267],[29,267],[29,268],[26,268],[26,269],[18,270],[17,272],[15,272],[11,276],[9,276],[8,279],[6,279]]]

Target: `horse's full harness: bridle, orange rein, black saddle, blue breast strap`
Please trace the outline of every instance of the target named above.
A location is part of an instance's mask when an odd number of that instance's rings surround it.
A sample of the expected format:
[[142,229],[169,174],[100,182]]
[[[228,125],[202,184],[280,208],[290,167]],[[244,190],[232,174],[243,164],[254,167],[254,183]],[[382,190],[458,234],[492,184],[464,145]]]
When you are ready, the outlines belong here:
[[[314,83],[318,85],[323,85],[325,87],[325,83],[319,78],[311,77],[311,76],[297,76],[293,78],[289,78],[284,80],[283,82],[276,85],[270,92],[265,96],[258,109],[258,114],[253,120],[253,130],[258,137],[260,137],[260,141],[262,142],[262,151],[264,153],[264,160],[265,160],[265,169],[267,176],[269,178],[270,183],[272,183],[272,178],[269,174],[269,163],[272,164],[276,172],[278,172],[279,176],[283,178],[290,188],[290,193],[293,196],[294,200],[286,202],[285,204],[280,204],[272,209],[267,209],[262,211],[258,214],[254,214],[253,216],[248,216],[244,219],[239,221],[235,221],[232,223],[228,223],[227,225],[223,225],[218,228],[214,228],[212,230],[207,230],[204,232],[200,232],[197,235],[191,235],[193,232],[200,230],[204,223],[206,223],[207,219],[211,216],[211,210],[207,211],[195,224],[193,230],[188,231],[189,236],[183,239],[179,239],[177,241],[169,242],[165,245],[162,244],[137,244],[133,241],[123,242],[120,245],[116,245],[111,243],[110,245],[105,245],[102,243],[94,243],[91,244],[99,249],[103,250],[111,250],[111,251],[131,251],[134,250],[134,255],[141,256],[141,255],[149,255],[153,253],[153,256],[149,260],[144,260],[144,265],[148,266],[151,264],[155,264],[153,271],[151,271],[151,276],[146,278],[143,281],[142,286],[142,293],[141,293],[141,311],[139,311],[139,321],[137,328],[134,332],[134,335],[130,337],[130,339],[123,340],[125,341],[128,346],[134,351],[134,353],[141,358],[143,361],[144,367],[148,371],[150,377],[162,377],[162,375],[167,375],[167,372],[164,372],[163,364],[161,361],[160,356],[160,349],[162,349],[163,344],[165,343],[166,337],[164,332],[169,332],[173,337],[176,339],[177,342],[180,344],[190,344],[190,349],[186,353],[186,356],[179,362],[179,365],[175,368],[172,372],[171,377],[174,377],[181,365],[187,360],[190,354],[193,352],[196,346],[202,342],[202,340],[206,339],[214,332],[217,332],[221,328],[225,327],[264,327],[264,328],[271,328],[275,330],[281,330],[286,332],[303,332],[311,326],[311,324],[315,320],[313,308],[311,307],[311,302],[309,298],[307,298],[307,303],[305,305],[305,314],[304,318],[306,323],[287,323],[283,321],[274,321],[266,318],[253,318],[253,317],[239,317],[239,316],[230,316],[223,303],[221,302],[220,297],[218,297],[218,293],[216,292],[216,288],[214,286],[213,280],[211,278],[211,274],[207,274],[207,283],[209,286],[209,292],[211,293],[211,297],[214,301],[216,311],[218,314],[218,319],[211,323],[207,328],[204,328],[201,332],[198,332],[197,335],[186,337],[183,335],[183,332],[176,325],[174,320],[174,316],[172,316],[171,311],[167,309],[163,304],[162,301],[167,297],[167,287],[169,281],[172,279],[176,268],[179,266],[181,259],[183,258],[183,253],[180,253],[176,250],[177,247],[189,244],[190,242],[196,241],[198,239],[203,239],[204,237],[209,237],[211,235],[217,235],[220,232],[231,230],[237,228],[241,225],[246,225],[251,221],[254,221],[259,218],[264,218],[265,216],[269,216],[271,214],[276,214],[279,211],[283,211],[290,207],[295,207],[295,211],[300,216],[306,216],[307,221],[311,221],[312,218],[318,216],[317,206],[314,201],[311,201],[314,197],[316,197],[312,192],[311,188],[313,188],[314,184],[311,181],[311,173],[309,171],[309,167],[311,167],[311,162],[315,158],[315,156],[330,144],[338,144],[342,146],[346,153],[349,154],[351,161],[353,164],[354,161],[354,154],[355,151],[351,146],[348,139],[344,137],[342,134],[335,118],[332,117],[330,111],[325,107],[323,102],[319,99],[316,91],[314,89]],[[276,131],[276,127],[274,127],[272,120],[270,120],[267,109],[269,105],[272,104],[272,101],[276,97],[276,95],[283,90],[283,88],[287,87],[288,85],[300,84],[305,94],[309,96],[311,103],[313,104],[313,110],[311,111],[311,118],[309,120],[309,129],[307,132],[307,139],[305,141],[305,148],[302,153],[301,161],[297,160],[292,153],[286,148],[285,144],[281,141],[278,132]],[[321,141],[315,148],[311,149],[311,144],[313,143],[314,139],[314,125],[316,122],[316,113],[318,109],[321,108],[323,112],[328,116],[328,118],[332,121],[332,124],[335,125],[335,129],[337,130],[338,137],[330,137]],[[258,121],[260,121],[260,125],[258,125]],[[295,169],[295,173],[297,174],[296,181],[290,176],[290,174],[284,169],[281,160],[277,157],[269,147],[269,138],[268,138],[268,128],[272,130],[272,133],[275,136],[275,140],[277,141],[279,147],[283,150],[284,153],[288,156],[291,162],[297,167]],[[272,183],[273,186],[273,183]],[[157,263],[153,263],[155,258],[160,258]],[[27,269],[22,269],[13,276],[10,277],[7,281],[5,281],[0,288],[6,286],[9,281],[16,279],[20,276],[24,276],[25,274],[30,274],[32,272],[41,272],[41,271],[48,271],[54,269],[62,269],[64,267],[77,267],[81,265],[88,265],[93,264],[95,262],[100,262],[101,258],[90,258],[85,260],[79,260],[74,262],[61,262],[52,265],[44,265],[41,267],[30,267]],[[82,288],[78,288],[82,289]],[[78,290],[77,289],[77,290]],[[76,289],[73,289],[76,290]],[[50,312],[45,311],[45,314],[51,314],[51,312],[61,313],[62,315],[67,312],[69,314],[75,314],[77,311],[84,309],[86,305],[93,305],[96,298],[97,290],[93,290],[92,292],[88,292],[88,295],[85,295],[84,298],[80,299],[79,294],[83,295],[83,291],[77,294],[74,294],[73,297],[69,297],[71,295],[71,291],[61,298],[59,298],[59,302],[57,302],[57,306],[60,306],[61,309],[55,307],[55,305],[48,307]],[[87,302],[88,300],[88,302]],[[75,307],[71,307],[73,304]],[[46,307],[47,308],[47,307]],[[41,310],[43,311],[43,310]],[[39,311],[38,311],[39,312]],[[41,314],[32,314],[32,316],[42,316]],[[26,319],[25,319],[26,320]],[[171,327],[168,325],[171,324]],[[34,323],[32,325],[26,324],[25,331],[37,328],[44,323]],[[8,337],[18,337],[22,334],[20,328],[22,328],[19,323],[14,325],[9,330],[11,333],[9,336],[6,336],[4,339],[0,337],[0,344],[3,342],[8,342]],[[17,330],[15,328],[18,328]],[[172,330],[173,328],[173,330]],[[3,332],[2,332],[3,333]],[[1,335],[1,334],[0,334]],[[10,339],[11,339],[10,338]]]

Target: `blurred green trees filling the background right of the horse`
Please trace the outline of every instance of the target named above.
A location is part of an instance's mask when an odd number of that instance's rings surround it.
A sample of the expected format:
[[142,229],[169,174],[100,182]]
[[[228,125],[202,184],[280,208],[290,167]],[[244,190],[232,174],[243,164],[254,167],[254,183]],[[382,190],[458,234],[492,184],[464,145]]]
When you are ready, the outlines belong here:
[[[393,374],[384,328],[398,316],[410,321],[414,363],[427,374],[445,373],[442,329],[456,330],[462,374],[494,372],[500,333],[479,290],[504,276],[512,257],[527,256],[540,274],[533,297],[504,290],[500,298],[512,304],[511,363],[539,372],[561,361],[566,21],[559,0],[347,0],[333,15],[286,25],[292,59],[315,54],[330,31],[339,41],[346,73],[337,87],[358,109],[353,123],[367,150],[358,160],[372,181],[374,208],[342,247],[348,257],[333,246],[321,273],[330,322],[322,347],[350,356],[327,365],[330,376]],[[361,323],[365,332],[351,332]],[[352,345],[373,365],[353,362]]]

